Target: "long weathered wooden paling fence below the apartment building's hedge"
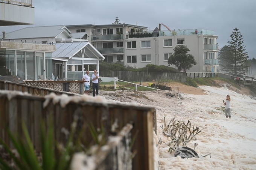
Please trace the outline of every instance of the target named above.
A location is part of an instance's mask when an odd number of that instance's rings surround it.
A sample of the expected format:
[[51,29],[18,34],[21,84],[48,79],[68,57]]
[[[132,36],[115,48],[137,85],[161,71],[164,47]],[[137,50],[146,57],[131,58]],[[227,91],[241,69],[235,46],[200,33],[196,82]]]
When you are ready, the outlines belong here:
[[158,81],[158,80],[180,80],[186,82],[186,73],[184,72],[143,72],[143,71],[100,71],[99,75],[106,77],[118,77],[123,81]]

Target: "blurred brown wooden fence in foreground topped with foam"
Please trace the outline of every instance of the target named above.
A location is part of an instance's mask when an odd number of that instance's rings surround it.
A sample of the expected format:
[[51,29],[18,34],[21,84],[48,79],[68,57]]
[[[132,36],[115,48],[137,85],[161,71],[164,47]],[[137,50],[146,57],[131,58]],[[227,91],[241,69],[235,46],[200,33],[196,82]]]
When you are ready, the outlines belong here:
[[[97,100],[99,98],[87,95],[65,97],[51,94],[41,97],[0,90],[0,137],[12,146],[6,135],[6,127],[12,132],[22,134],[21,121],[23,121],[35,149],[40,151],[40,122],[45,119],[49,123],[49,117],[53,118],[54,138],[60,143],[66,142],[66,136],[61,129],[65,128],[70,131],[74,116],[79,117],[80,126],[78,127],[92,123],[97,129],[103,125],[106,137],[111,135],[111,122],[114,120],[118,120],[119,131],[127,123],[132,122],[131,138],[134,139],[134,144],[131,152],[136,153],[132,160],[133,169],[152,170],[154,166],[152,142],[154,108],[111,104]],[[93,143],[88,128],[82,133],[82,138],[87,143]],[[105,158],[112,159],[112,157],[106,156]],[[111,166],[110,162],[108,164]]]

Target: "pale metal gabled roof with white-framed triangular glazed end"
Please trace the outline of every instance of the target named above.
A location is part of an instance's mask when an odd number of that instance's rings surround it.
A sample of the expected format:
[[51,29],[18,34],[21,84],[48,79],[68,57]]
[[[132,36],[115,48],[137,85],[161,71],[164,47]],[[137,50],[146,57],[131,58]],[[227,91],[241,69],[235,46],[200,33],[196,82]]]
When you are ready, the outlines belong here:
[[53,45],[56,47],[56,50],[52,53],[53,58],[71,59],[72,57],[80,57],[99,60],[105,59],[90,42],[58,42],[53,43]]

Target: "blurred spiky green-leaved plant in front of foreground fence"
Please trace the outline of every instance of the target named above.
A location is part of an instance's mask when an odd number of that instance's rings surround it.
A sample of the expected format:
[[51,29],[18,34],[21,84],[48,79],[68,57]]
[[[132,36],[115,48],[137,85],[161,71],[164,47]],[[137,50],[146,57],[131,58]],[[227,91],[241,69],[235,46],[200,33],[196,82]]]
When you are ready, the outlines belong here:
[[[73,123],[74,124],[74,123]],[[73,135],[76,127],[71,128],[69,139],[66,146],[60,147],[57,144],[55,147],[54,135],[53,135],[53,123],[50,121],[49,129],[46,130],[44,122],[40,126],[40,139],[41,139],[41,153],[42,161],[37,157],[32,140],[29,137],[26,125],[22,122],[22,130],[24,138],[21,135],[14,135],[8,130],[8,135],[14,144],[15,149],[19,154],[17,158],[11,151],[10,147],[0,138],[0,144],[3,145],[6,152],[9,153],[10,157],[14,160],[15,165],[20,170],[67,170],[69,169],[70,160],[74,153]],[[57,150],[56,150],[57,149]],[[56,153],[56,154],[55,154]],[[0,157],[0,169],[2,170],[13,170],[2,157]]]

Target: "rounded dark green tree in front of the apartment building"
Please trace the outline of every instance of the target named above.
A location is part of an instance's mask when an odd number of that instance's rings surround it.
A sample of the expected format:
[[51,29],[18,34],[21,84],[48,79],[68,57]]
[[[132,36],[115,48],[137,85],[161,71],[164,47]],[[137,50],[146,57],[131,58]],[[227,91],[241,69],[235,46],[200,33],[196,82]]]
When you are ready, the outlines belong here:
[[174,54],[168,58],[168,65],[175,65],[178,70],[180,69],[190,69],[193,65],[196,65],[195,57],[189,52],[189,48],[185,45],[177,45],[174,48]]

